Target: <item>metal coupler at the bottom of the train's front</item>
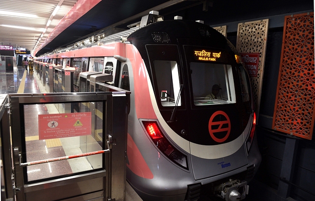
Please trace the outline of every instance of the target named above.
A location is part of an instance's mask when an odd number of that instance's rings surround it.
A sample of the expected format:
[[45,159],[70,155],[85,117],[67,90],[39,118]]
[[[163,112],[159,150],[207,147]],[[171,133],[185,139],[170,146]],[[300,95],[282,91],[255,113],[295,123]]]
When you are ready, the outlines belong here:
[[230,179],[216,187],[217,191],[221,191],[221,197],[225,201],[241,201],[248,195],[249,186],[247,182]]

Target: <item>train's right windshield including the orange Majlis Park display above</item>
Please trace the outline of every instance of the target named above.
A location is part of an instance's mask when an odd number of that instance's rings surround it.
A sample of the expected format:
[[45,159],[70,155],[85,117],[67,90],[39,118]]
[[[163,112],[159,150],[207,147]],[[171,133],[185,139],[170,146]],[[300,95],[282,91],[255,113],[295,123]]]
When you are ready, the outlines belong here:
[[224,50],[184,45],[196,106],[235,103],[231,55]]

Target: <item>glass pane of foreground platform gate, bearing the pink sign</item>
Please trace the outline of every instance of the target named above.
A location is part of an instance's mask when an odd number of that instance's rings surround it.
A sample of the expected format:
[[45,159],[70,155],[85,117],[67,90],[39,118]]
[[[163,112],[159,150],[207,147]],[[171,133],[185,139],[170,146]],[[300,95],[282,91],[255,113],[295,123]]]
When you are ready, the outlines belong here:
[[[24,105],[26,161],[47,160],[104,150],[103,102]],[[29,126],[32,125],[32,126]],[[103,168],[103,155],[28,166],[27,182]],[[25,159],[24,159],[25,160]]]

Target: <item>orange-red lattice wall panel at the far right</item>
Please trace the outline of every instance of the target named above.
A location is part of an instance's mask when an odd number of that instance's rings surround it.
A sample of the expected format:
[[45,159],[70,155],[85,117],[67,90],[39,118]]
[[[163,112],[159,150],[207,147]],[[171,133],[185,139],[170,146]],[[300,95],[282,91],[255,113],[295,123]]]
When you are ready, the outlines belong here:
[[273,129],[312,139],[315,119],[314,13],[286,16]]

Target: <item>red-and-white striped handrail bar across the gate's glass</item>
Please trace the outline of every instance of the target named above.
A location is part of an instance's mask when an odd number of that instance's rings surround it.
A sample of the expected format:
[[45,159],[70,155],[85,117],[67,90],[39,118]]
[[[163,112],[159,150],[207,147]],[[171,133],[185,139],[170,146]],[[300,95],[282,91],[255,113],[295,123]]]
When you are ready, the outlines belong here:
[[22,157],[21,157],[21,154],[19,154],[20,167],[32,166],[32,165],[55,162],[55,161],[63,161],[63,160],[67,160],[67,159],[74,159],[74,158],[80,158],[80,157],[84,157],[84,156],[91,156],[91,155],[103,154],[103,153],[110,152],[111,147],[112,147],[111,146],[111,144],[112,144],[112,136],[111,135],[108,135],[108,140],[106,140],[106,144],[107,144],[107,149],[105,149],[105,150],[92,151],[92,152],[83,153],[83,154],[75,154],[75,155],[57,157],[57,158],[53,158],[53,159],[45,159],[45,160],[40,160],[40,161],[32,161],[32,162],[28,162],[28,163],[22,163]]

